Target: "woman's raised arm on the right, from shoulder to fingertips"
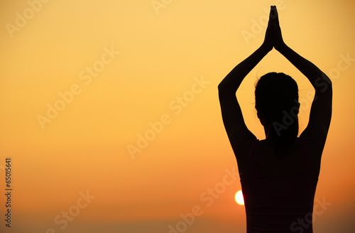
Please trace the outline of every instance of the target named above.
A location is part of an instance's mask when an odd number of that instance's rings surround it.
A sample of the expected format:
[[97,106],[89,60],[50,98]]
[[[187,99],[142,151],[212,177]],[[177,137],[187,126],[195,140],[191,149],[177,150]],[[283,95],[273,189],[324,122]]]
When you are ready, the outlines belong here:
[[[277,11],[276,11],[277,12]],[[283,42],[278,16],[275,20],[274,47],[295,65],[315,88],[315,98],[310,110],[310,120],[300,137],[307,141],[311,153],[318,160],[322,156],[332,118],[332,81],[317,66],[302,58]]]

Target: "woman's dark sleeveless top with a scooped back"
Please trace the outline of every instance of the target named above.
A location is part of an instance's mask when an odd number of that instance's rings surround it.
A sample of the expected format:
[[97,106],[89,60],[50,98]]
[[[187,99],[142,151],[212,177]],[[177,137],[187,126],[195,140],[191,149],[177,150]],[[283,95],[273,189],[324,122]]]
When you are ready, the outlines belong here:
[[312,212],[319,172],[304,139],[297,141],[302,162],[297,173],[288,178],[265,175],[258,163],[260,141],[252,143],[247,166],[240,175],[247,233],[313,232]]

